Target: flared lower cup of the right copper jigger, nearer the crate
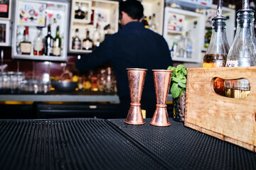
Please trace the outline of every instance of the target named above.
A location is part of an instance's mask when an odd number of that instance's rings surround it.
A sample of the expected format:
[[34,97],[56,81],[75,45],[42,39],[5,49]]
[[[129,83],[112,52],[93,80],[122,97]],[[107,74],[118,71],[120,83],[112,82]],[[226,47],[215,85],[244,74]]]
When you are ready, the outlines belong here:
[[168,113],[166,108],[156,108],[150,125],[154,126],[170,126]]

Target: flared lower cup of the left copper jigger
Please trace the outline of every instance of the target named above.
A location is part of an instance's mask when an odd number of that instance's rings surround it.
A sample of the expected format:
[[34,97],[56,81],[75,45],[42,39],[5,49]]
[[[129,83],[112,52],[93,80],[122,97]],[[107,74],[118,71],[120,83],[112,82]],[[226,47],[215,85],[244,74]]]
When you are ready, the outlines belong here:
[[129,108],[127,119],[124,121],[124,123],[130,125],[143,125],[145,123],[140,106],[131,106]]

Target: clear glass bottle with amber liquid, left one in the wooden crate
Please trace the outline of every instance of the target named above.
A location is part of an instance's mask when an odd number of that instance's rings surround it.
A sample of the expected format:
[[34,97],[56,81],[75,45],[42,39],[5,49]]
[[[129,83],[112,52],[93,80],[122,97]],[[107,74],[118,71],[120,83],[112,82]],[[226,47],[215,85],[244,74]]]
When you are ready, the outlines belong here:
[[[227,60],[228,45],[227,35],[225,32],[226,18],[222,16],[222,1],[218,1],[217,16],[213,21],[213,33],[210,38],[210,44],[203,57],[203,67],[225,67]],[[216,94],[225,96],[224,79],[216,78],[214,81],[214,89]]]

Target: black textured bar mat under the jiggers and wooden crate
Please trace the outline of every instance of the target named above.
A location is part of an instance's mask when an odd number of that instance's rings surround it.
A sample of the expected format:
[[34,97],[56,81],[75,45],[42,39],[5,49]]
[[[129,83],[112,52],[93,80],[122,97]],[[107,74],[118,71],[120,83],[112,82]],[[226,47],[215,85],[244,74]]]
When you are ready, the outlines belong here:
[[151,119],[144,125],[110,122],[176,169],[256,169],[256,153],[169,120],[169,127],[150,125]]

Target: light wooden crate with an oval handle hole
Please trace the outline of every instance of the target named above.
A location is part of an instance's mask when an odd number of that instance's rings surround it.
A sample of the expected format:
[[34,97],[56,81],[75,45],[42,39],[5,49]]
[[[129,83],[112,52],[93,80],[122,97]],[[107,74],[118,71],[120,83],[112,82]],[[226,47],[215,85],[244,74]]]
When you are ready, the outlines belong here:
[[[250,94],[215,94],[215,77],[248,79]],[[256,152],[256,67],[191,68],[187,78],[185,125]]]

